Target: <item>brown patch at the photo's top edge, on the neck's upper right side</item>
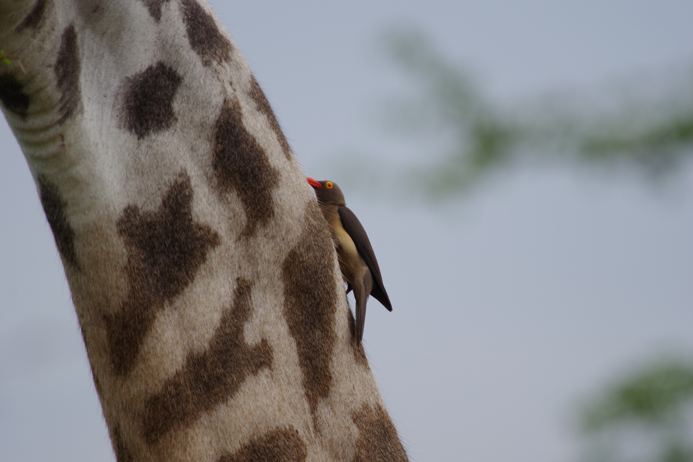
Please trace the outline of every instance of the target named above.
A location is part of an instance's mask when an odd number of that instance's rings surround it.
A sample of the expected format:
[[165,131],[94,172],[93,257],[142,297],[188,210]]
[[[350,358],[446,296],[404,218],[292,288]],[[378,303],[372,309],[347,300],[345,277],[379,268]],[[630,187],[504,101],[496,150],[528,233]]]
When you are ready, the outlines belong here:
[[181,0],[181,12],[188,33],[188,43],[202,58],[202,64],[229,62],[233,45],[220,33],[214,17],[195,0]]

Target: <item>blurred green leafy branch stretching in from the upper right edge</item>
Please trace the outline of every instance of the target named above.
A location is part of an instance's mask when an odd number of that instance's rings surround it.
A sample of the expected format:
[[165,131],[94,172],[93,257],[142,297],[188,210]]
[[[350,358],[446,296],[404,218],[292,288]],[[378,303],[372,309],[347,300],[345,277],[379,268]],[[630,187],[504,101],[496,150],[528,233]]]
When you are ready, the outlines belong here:
[[391,29],[382,44],[409,86],[389,98],[387,123],[400,139],[414,137],[432,147],[403,175],[430,198],[462,192],[493,170],[528,160],[635,167],[660,176],[693,154],[689,89],[667,89],[654,101],[636,95],[611,110],[598,104],[610,95],[600,95],[594,107],[585,106],[589,98],[551,105],[537,98],[511,107],[494,103],[417,30]]

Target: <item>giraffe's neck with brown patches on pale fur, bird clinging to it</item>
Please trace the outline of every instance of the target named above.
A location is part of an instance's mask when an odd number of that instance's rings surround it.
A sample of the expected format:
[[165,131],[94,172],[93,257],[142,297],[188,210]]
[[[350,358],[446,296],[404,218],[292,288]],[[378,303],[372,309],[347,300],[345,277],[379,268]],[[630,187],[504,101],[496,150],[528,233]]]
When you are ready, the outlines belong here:
[[203,0],[1,0],[0,102],[116,460],[407,461],[328,226]]

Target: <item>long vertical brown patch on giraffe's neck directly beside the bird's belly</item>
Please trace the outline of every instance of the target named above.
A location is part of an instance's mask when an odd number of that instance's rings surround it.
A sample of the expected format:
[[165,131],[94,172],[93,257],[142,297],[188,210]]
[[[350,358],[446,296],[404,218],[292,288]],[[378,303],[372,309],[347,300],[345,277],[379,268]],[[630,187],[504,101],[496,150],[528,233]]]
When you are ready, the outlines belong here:
[[320,398],[332,385],[330,360],[336,335],[337,293],[334,247],[327,223],[315,201],[306,207],[304,231],[281,265],[284,317],[296,341],[301,381],[315,416]]

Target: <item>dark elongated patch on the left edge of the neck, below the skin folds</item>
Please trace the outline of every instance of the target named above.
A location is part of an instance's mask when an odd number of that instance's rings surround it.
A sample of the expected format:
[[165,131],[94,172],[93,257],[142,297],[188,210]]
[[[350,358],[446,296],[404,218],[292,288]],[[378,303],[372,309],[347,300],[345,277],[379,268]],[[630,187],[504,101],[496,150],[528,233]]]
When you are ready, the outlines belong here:
[[36,179],[39,184],[39,197],[41,205],[46,213],[46,220],[53,231],[55,245],[58,246],[58,251],[65,261],[74,269],[80,269],[75,253],[75,230],[67,220],[65,215],[65,202],[60,197],[58,186],[51,183],[44,175],[39,175]]

